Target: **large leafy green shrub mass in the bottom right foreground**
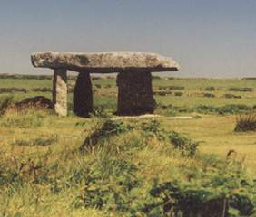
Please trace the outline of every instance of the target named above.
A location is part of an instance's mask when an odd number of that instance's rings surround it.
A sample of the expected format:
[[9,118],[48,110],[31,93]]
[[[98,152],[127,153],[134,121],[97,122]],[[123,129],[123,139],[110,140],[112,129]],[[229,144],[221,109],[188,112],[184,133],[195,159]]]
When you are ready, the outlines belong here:
[[[187,180],[155,180],[141,211],[146,216],[252,216],[256,182],[237,162],[191,171]],[[150,200],[148,200],[150,201]],[[254,216],[254,215],[253,215]]]

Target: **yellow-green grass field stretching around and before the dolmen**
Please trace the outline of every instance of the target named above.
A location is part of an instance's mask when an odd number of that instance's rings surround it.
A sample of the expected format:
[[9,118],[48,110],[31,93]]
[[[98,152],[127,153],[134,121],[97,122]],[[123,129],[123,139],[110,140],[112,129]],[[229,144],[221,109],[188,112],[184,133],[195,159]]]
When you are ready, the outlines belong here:
[[[72,90],[74,80],[69,81]],[[94,79],[93,84],[94,105],[102,106],[109,118],[113,118],[117,100],[115,80]],[[14,96],[18,101],[37,95],[51,99],[51,92],[33,89],[49,89],[52,80],[0,79],[0,88],[14,87],[26,92],[0,93],[0,99]],[[163,117],[117,121],[115,134],[103,134],[84,155],[79,152],[84,139],[106,120],[96,116],[75,117],[72,91],[68,95],[69,115],[65,118],[44,109],[7,111],[0,118],[0,216],[175,216],[171,211],[163,213],[161,208],[155,208],[152,215],[138,211],[138,207],[148,203],[156,177],[162,184],[179,180],[182,186],[189,183],[194,184],[190,187],[201,189],[201,182],[229,175],[230,164],[225,162],[230,151],[232,160],[241,166],[239,172],[233,172],[231,167],[233,174],[223,182],[218,181],[222,184],[212,186],[209,191],[227,186],[229,191],[232,187],[238,191],[239,184],[228,182],[230,177],[240,180],[241,171],[246,171],[245,176],[254,179],[254,190],[248,191],[255,203],[256,134],[234,132],[234,128],[239,114],[255,109],[256,80],[162,78],[153,80],[153,91],[159,105],[155,113]],[[182,94],[175,96],[176,92]],[[231,107],[219,112],[218,108],[227,105]],[[243,105],[246,109],[232,109],[233,105]],[[201,106],[208,107],[198,109]],[[164,118],[180,115],[192,119]],[[174,140],[171,143],[168,140],[172,131],[182,135],[177,136],[178,140],[191,139],[185,140],[188,148],[192,148],[192,141],[198,141],[196,154],[183,155],[183,149],[173,148]],[[209,177],[204,177],[208,172]],[[187,179],[188,175],[192,175],[192,181]],[[116,180],[122,180],[122,187],[116,186]],[[125,183],[131,185],[134,195],[125,188]],[[241,215],[237,210],[230,209],[228,216],[255,216],[247,211]]]

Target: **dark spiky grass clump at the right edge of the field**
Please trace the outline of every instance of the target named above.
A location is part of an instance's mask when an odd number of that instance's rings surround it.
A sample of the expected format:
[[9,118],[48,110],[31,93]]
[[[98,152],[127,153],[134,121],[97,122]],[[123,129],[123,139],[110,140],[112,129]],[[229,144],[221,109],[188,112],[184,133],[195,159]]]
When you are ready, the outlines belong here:
[[256,114],[248,113],[241,115],[236,120],[236,127],[234,131],[255,131],[256,130]]

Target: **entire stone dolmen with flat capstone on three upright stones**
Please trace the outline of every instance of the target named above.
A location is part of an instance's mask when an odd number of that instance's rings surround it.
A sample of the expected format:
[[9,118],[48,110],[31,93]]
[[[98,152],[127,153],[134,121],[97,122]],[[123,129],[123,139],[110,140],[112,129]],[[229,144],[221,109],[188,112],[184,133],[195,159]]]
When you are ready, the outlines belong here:
[[54,70],[53,104],[57,114],[67,115],[67,71],[78,72],[74,87],[74,113],[87,117],[94,109],[90,73],[118,73],[118,115],[153,113],[151,72],[178,71],[171,58],[150,52],[35,52],[34,67]]

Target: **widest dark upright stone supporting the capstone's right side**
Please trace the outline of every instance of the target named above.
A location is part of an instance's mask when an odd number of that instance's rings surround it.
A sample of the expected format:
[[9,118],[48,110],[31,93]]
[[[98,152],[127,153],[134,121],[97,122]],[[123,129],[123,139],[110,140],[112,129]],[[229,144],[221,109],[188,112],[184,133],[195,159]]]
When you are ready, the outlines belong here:
[[143,115],[153,113],[152,76],[146,71],[120,72],[117,75],[118,115]]

